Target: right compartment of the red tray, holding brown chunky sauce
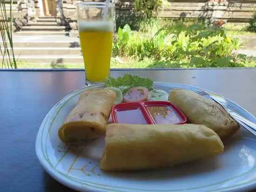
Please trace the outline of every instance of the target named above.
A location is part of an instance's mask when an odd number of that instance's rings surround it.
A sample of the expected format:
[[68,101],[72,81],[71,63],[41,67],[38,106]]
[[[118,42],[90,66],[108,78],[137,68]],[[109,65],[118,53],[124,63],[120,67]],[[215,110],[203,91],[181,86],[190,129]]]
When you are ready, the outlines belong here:
[[144,106],[155,124],[184,124],[186,116],[168,101],[146,101]]

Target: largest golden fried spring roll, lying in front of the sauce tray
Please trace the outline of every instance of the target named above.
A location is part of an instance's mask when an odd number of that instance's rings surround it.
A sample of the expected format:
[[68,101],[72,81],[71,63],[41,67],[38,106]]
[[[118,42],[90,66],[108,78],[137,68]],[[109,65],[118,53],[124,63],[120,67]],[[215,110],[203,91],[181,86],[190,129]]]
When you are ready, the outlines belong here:
[[128,171],[174,166],[223,152],[216,132],[194,124],[108,124],[100,168]]

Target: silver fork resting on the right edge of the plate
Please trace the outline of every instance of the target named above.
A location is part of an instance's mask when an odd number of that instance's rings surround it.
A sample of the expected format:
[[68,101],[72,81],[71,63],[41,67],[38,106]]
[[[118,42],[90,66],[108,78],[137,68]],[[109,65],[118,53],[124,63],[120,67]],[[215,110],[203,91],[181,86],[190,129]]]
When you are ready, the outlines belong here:
[[254,134],[256,136],[256,124],[251,122],[250,120],[242,117],[241,115],[237,114],[236,112],[231,111],[228,108],[228,103],[225,98],[223,98],[220,95],[216,95],[214,93],[207,93],[205,91],[197,91],[195,92],[201,96],[208,96],[209,99],[212,99],[214,102],[222,106],[222,108],[229,113],[229,115],[236,120],[237,123],[239,123],[241,126],[243,126],[245,129],[247,129],[249,132]]

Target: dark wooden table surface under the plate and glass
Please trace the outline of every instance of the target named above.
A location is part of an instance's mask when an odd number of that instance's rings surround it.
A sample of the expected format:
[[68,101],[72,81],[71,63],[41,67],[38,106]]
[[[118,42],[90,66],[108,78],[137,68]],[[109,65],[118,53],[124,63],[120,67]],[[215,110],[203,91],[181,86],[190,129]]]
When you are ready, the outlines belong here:
[[[115,70],[111,74],[124,73],[200,86],[256,115],[256,69]],[[84,84],[84,71],[0,71],[0,192],[74,192],[40,166],[35,139],[48,111]]]

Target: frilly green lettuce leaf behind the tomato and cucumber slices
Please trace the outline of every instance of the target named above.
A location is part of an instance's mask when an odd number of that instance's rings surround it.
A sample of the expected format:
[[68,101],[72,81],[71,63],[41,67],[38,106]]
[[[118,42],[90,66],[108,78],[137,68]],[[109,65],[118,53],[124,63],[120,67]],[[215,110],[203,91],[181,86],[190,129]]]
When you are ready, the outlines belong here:
[[107,87],[112,86],[120,89],[122,93],[136,86],[144,86],[148,88],[149,91],[153,90],[153,81],[151,79],[130,73],[125,73],[123,77],[106,78],[105,84]]

